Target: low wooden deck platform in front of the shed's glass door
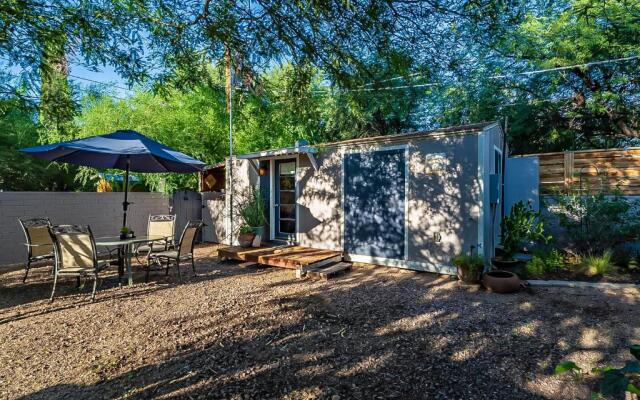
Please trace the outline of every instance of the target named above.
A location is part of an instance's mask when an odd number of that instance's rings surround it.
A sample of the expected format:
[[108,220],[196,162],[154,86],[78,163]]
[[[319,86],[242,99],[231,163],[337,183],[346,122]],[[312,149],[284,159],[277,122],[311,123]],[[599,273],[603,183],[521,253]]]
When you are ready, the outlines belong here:
[[306,270],[342,261],[342,252],[312,249],[302,246],[277,247],[223,247],[218,249],[220,259],[258,263],[273,267]]

